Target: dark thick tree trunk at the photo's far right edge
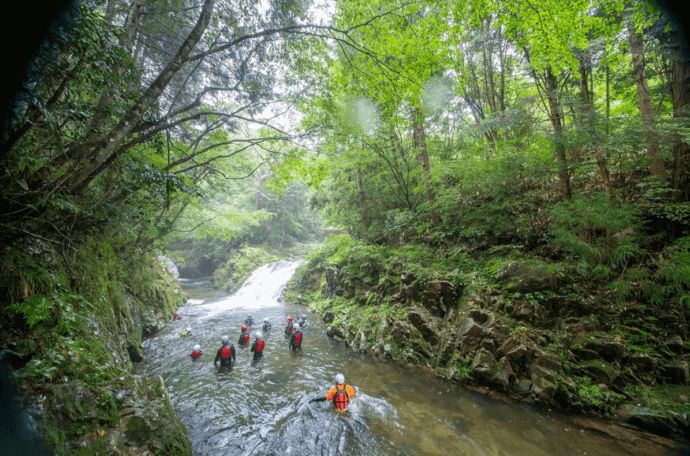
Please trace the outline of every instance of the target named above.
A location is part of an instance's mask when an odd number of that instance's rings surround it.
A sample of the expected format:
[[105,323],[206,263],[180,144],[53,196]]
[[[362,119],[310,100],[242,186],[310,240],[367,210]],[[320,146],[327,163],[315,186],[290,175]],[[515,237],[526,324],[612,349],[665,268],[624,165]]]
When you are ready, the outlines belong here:
[[[675,25],[671,33],[671,94],[673,118],[682,125],[690,122],[690,51],[682,30]],[[679,134],[673,137],[673,173],[671,186],[676,201],[690,199],[690,145]]]

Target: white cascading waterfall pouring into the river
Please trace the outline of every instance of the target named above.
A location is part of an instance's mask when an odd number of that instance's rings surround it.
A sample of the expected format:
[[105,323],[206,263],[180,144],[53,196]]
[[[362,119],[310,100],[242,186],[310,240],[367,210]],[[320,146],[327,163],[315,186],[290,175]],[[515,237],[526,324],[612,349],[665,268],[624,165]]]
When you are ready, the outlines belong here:
[[207,319],[231,309],[259,309],[280,305],[280,298],[287,281],[302,261],[277,261],[254,271],[237,293],[200,306]]

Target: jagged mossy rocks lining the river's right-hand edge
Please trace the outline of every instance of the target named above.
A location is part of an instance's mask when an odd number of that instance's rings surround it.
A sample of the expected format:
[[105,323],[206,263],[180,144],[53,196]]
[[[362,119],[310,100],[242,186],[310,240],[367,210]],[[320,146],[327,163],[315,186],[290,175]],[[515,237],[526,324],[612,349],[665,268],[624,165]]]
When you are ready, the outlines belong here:
[[329,335],[354,350],[426,365],[439,376],[521,401],[690,436],[687,413],[655,412],[631,403],[627,392],[678,385],[676,396],[687,403],[687,335],[669,338],[663,356],[644,353],[603,331],[590,303],[506,303],[504,293],[547,293],[563,280],[513,263],[496,274],[503,291],[487,292],[404,272],[381,299],[376,286],[353,287],[358,279],[338,268],[307,263],[289,285],[288,299],[310,305],[330,326]]

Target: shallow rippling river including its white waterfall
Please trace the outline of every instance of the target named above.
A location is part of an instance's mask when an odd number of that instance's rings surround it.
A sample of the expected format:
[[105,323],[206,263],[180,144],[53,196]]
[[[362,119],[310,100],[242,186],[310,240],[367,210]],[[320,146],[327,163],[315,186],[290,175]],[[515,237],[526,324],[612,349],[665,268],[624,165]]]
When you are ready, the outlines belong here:
[[[140,370],[163,377],[194,454],[676,454],[644,439],[621,442],[556,413],[473,393],[422,369],[353,353],[330,340],[315,317],[304,330],[302,352],[295,354],[283,325],[288,315],[305,310],[279,297],[297,266],[263,266],[232,296],[219,295],[204,281],[182,280],[190,296],[183,319],[145,341]],[[273,324],[264,337],[264,359],[253,364],[249,349],[239,348],[232,371],[216,370],[221,336],[235,343],[248,314],[256,329],[264,318]],[[192,335],[179,337],[188,326]],[[194,344],[204,350],[198,361],[189,356]],[[338,372],[358,392],[343,415],[329,403],[308,403],[333,386]]]

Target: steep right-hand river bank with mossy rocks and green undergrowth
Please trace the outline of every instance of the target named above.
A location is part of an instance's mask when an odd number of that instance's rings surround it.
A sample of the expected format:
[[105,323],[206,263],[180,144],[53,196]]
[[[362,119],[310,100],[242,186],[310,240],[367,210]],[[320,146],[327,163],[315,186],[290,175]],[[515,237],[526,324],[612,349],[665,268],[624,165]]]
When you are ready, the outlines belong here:
[[510,245],[470,254],[463,245],[391,248],[338,237],[310,255],[287,298],[317,311],[355,350],[688,436],[684,310],[614,291],[571,263]]

